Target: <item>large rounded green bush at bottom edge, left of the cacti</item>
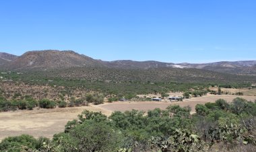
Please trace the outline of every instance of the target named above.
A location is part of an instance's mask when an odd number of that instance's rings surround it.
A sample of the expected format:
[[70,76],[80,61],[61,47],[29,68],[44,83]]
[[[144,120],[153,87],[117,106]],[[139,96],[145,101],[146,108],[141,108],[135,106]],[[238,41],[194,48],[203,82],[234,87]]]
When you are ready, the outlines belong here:
[[105,122],[88,120],[54,141],[63,151],[118,151],[123,135]]

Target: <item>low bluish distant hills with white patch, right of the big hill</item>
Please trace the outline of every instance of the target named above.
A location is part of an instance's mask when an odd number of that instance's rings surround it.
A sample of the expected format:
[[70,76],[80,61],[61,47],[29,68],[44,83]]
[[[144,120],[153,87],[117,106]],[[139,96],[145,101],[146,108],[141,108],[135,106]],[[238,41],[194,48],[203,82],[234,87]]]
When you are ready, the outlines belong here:
[[104,62],[106,67],[115,67],[121,69],[151,69],[172,67],[179,69],[205,69],[220,73],[240,74],[240,75],[256,75],[256,61],[234,61],[234,62],[217,62],[217,63],[162,63],[158,61],[111,61]]

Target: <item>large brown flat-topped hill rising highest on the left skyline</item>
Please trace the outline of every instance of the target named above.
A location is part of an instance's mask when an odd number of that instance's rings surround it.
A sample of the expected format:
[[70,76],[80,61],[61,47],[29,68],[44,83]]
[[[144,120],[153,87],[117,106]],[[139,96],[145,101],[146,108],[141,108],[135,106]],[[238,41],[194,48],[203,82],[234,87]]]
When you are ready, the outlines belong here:
[[5,65],[7,69],[61,69],[69,67],[98,66],[98,61],[71,50],[29,51]]

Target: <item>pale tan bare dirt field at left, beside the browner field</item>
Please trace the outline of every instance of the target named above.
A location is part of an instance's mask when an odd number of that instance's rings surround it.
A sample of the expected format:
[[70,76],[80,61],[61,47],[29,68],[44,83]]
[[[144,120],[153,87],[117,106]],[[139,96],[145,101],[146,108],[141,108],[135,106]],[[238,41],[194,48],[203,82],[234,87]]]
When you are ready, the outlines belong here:
[[51,110],[19,110],[15,112],[0,112],[0,141],[5,137],[22,134],[51,138],[62,132],[69,120],[77,118],[84,110],[101,111],[109,115],[107,110],[83,106],[75,108],[55,108]]

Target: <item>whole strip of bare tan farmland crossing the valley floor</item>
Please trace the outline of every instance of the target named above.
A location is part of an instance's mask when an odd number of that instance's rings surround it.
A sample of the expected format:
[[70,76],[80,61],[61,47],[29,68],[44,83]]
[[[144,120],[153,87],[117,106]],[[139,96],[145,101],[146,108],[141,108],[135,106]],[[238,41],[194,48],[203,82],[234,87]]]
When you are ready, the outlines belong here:
[[22,134],[32,135],[34,137],[51,138],[56,133],[62,132],[65,124],[69,120],[77,118],[84,110],[102,112],[109,116],[113,111],[124,112],[126,110],[153,110],[154,108],[165,109],[169,105],[178,104],[180,106],[191,106],[192,112],[195,112],[195,105],[205,104],[206,102],[215,102],[222,98],[231,102],[234,98],[241,97],[247,100],[255,101],[255,96],[203,96],[200,98],[191,98],[184,102],[114,102],[102,105],[90,105],[88,107],[75,108],[55,108],[52,110],[36,109],[32,111],[18,110],[15,112],[0,112],[0,141],[5,137],[18,136]]

